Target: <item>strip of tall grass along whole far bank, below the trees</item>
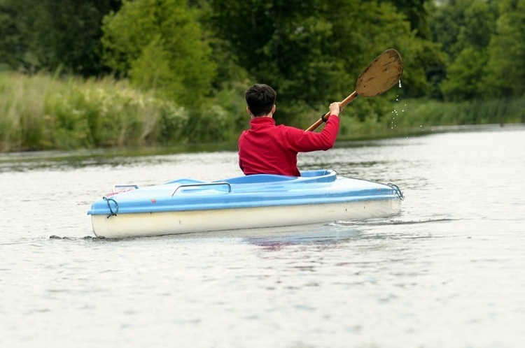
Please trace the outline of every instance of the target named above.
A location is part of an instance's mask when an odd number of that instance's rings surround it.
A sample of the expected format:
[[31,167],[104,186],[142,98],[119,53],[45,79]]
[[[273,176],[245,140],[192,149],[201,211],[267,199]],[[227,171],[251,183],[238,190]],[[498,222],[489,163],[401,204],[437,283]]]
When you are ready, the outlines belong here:
[[[207,105],[187,110],[125,80],[0,72],[0,152],[235,143],[248,127],[245,87],[244,82],[231,85]],[[400,136],[431,126],[525,122],[524,98],[463,103],[379,98],[346,107],[339,139]],[[304,128],[320,116],[307,108],[295,111],[295,126]]]

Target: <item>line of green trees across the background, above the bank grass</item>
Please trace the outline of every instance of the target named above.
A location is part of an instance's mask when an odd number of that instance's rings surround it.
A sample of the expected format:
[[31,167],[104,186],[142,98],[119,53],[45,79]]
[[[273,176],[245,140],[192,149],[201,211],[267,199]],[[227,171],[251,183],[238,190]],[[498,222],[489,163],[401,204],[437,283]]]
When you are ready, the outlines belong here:
[[[111,76],[226,113],[262,82],[277,117],[297,122],[352,92],[387,48],[403,58],[402,99],[521,100],[524,42],[525,0],[0,0],[0,71]],[[355,113],[387,109],[374,99]]]

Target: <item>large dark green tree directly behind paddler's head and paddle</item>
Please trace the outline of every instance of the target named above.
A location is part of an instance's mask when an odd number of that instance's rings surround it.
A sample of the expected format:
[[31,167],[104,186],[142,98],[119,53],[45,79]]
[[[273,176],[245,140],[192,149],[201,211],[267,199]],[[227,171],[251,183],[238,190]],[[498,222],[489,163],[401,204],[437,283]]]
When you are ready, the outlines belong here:
[[[405,15],[386,1],[209,3],[218,37],[231,44],[254,80],[276,89],[281,110],[300,104],[325,108],[335,96],[349,94],[361,69],[379,53],[398,48],[404,55],[402,50],[421,43]],[[421,64],[422,57],[406,55],[406,63]],[[424,68],[407,73],[406,82],[418,80],[426,80]]]

